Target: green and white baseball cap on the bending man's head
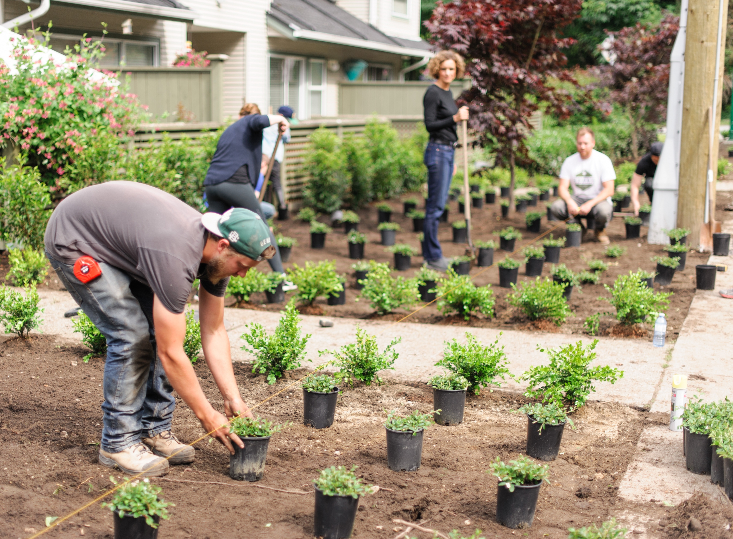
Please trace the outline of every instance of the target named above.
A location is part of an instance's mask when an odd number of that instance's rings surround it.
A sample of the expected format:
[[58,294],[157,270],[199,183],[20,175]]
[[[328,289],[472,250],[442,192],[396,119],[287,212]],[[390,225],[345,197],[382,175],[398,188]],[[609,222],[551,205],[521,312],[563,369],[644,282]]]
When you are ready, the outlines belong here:
[[201,223],[208,231],[229,240],[237,253],[257,261],[267,258],[262,252],[272,245],[270,227],[255,212],[244,208],[230,208],[223,215],[208,212],[201,216]]

